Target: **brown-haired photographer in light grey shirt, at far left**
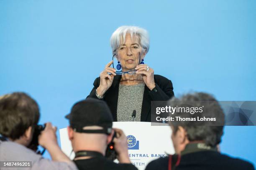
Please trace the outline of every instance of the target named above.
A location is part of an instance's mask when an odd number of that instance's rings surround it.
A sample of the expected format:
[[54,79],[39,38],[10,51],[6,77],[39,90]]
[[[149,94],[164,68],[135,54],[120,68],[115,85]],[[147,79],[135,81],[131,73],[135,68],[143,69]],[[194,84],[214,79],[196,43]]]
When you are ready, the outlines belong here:
[[[39,116],[36,101],[23,92],[0,97],[0,161],[31,161],[30,167],[23,170],[76,170],[74,163],[59,148],[56,128],[51,123],[46,123],[38,143],[48,150],[52,161],[29,149]],[[10,167],[1,167],[1,170],[5,168]]]

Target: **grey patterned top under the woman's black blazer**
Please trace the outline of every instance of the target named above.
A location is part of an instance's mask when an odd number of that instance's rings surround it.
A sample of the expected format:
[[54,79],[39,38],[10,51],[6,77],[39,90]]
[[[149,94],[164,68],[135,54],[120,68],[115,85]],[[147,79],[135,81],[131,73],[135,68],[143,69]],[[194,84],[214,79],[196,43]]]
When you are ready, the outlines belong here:
[[138,85],[122,85],[119,84],[118,105],[117,105],[117,121],[132,121],[133,110],[136,110],[134,121],[141,121],[141,107],[144,95],[145,83]]

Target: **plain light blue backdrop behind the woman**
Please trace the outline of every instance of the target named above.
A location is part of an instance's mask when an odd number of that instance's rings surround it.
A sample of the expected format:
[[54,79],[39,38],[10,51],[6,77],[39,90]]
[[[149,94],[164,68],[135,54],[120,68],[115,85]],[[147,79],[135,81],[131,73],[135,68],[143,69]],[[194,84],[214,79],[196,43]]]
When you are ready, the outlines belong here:
[[[66,127],[64,115],[111,60],[121,25],[148,30],[145,63],[172,80],[176,96],[256,100],[255,0],[0,0],[0,95],[28,92],[40,123]],[[255,131],[225,127],[222,152],[255,164]]]

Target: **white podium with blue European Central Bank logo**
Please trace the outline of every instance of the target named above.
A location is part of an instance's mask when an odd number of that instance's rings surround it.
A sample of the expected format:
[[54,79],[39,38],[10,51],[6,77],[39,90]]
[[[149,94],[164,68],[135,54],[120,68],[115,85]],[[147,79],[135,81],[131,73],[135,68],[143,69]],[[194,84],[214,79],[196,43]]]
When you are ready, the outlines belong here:
[[[130,160],[139,170],[144,170],[151,160],[174,154],[172,130],[168,125],[152,126],[151,122],[113,122],[113,128],[124,131]],[[60,129],[59,133],[61,150],[73,159],[74,152],[72,153],[67,128]]]

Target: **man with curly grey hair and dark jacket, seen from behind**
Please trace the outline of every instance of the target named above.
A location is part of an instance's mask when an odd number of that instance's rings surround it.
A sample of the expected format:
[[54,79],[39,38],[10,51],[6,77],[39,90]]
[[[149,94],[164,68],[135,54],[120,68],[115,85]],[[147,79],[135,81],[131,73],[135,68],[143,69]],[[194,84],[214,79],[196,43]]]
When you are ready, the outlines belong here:
[[193,112],[195,108],[204,106],[202,112],[192,115],[190,112],[182,112],[179,117],[211,117],[213,121],[197,122],[191,119],[170,122],[175,154],[152,161],[146,170],[254,170],[251,163],[220,153],[218,144],[223,135],[225,116],[220,104],[212,95],[202,92],[187,94],[172,98],[169,104],[177,108],[193,108]]

